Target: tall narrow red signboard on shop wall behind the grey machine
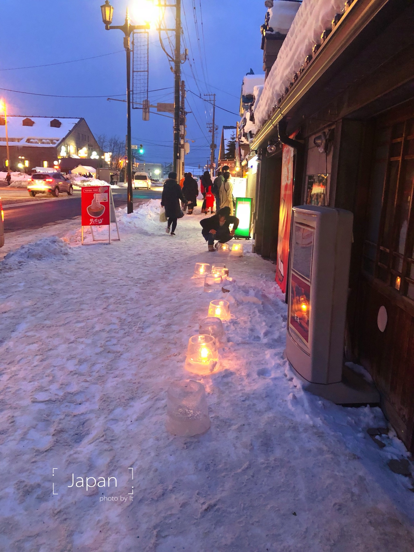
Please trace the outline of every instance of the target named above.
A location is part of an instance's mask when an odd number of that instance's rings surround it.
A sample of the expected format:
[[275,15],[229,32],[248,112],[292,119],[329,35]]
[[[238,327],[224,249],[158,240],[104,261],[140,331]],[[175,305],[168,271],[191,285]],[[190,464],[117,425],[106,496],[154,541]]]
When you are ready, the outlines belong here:
[[[291,137],[294,137],[292,135]],[[288,281],[290,216],[292,212],[293,148],[283,145],[282,180],[280,182],[278,256],[275,280],[285,293]]]

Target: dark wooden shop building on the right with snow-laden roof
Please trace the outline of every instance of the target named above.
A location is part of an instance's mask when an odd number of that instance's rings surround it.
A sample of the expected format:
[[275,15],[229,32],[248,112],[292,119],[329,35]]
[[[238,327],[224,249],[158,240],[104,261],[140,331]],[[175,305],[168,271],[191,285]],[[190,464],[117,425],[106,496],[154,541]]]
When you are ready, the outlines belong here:
[[262,26],[264,48],[280,43],[254,105],[254,250],[289,299],[292,207],[351,211],[344,357],[414,452],[414,4],[288,4],[266,0]]

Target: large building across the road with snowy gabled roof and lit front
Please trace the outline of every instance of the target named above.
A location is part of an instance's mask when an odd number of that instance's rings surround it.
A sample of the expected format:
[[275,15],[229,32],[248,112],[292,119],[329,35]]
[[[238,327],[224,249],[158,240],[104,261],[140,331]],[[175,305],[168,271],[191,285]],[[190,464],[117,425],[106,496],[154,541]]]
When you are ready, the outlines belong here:
[[[7,131],[12,170],[53,167],[61,159],[73,167],[79,160],[95,164],[100,159],[98,142],[83,118],[8,115]],[[0,117],[0,166],[6,167],[6,159],[6,121]]]

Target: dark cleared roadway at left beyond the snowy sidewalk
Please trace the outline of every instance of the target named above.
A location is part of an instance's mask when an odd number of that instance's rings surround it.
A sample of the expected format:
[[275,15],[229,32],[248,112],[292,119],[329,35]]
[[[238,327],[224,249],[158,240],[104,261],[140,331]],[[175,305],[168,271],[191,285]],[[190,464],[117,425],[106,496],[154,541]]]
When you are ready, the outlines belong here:
[[[143,200],[160,199],[162,188],[134,190],[134,205]],[[115,207],[126,205],[126,188],[113,189]],[[4,210],[4,232],[39,228],[59,220],[73,219],[81,215],[81,192],[72,196],[51,198],[44,194],[31,198],[24,188],[0,188]]]

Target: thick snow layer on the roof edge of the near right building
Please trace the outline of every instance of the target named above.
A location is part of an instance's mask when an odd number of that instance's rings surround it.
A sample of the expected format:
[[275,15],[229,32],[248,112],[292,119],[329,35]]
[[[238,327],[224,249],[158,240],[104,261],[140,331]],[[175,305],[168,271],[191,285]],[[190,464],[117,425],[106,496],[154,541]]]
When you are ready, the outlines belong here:
[[322,32],[331,28],[333,17],[341,12],[343,6],[344,0],[303,0],[300,4],[254,112],[258,129],[268,119],[285,88],[289,88],[294,73],[299,71],[306,56],[312,53],[312,47],[320,43]]

